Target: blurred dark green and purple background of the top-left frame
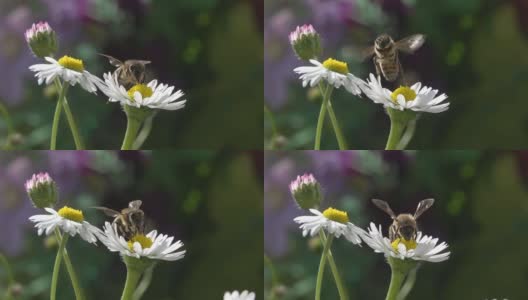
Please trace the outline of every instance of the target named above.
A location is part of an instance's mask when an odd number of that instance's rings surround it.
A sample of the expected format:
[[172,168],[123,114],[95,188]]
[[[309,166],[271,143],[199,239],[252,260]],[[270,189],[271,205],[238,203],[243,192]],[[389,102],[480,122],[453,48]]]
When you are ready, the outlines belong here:
[[[97,53],[146,59],[155,78],[183,90],[186,107],[160,111],[143,149],[261,148],[262,9],[262,0],[1,1],[0,104],[9,110],[10,133],[22,135],[7,138],[18,149],[49,145],[57,93],[37,85],[28,67],[39,60],[24,40],[43,20],[59,35],[58,55],[83,59],[92,74],[113,70]],[[68,98],[89,149],[120,145],[126,117],[119,105],[80,88]],[[62,121],[58,148],[74,149]]]

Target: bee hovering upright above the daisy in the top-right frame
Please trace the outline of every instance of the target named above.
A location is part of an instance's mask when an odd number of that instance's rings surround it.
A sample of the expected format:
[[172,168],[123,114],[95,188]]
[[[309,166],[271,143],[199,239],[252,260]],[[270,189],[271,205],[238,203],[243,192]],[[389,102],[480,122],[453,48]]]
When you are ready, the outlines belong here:
[[363,51],[363,57],[366,59],[374,55],[372,61],[378,76],[383,74],[387,81],[393,82],[398,77],[403,77],[403,68],[398,57],[399,51],[413,53],[424,42],[425,35],[423,34],[414,34],[394,42],[390,35],[384,33],[376,38],[374,46]]

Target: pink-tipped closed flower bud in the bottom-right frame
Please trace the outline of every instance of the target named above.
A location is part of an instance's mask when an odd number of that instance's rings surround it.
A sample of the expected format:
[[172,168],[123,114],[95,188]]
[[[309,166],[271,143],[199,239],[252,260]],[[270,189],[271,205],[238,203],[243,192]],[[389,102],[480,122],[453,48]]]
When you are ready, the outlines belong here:
[[312,174],[304,174],[290,183],[290,192],[302,209],[316,208],[322,200],[321,185]]

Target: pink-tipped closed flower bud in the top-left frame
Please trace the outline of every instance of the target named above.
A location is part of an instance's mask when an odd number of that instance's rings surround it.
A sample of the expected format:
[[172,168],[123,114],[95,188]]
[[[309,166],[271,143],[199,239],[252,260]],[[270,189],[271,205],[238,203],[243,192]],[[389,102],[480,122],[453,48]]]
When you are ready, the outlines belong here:
[[48,22],[38,22],[26,30],[26,42],[36,57],[53,56],[57,52],[57,34]]

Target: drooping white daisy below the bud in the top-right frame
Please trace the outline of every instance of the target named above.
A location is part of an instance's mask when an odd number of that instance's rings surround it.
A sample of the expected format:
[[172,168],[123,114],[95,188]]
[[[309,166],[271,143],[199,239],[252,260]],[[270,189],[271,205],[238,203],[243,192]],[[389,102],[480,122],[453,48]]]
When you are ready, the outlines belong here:
[[365,83],[356,76],[348,72],[347,63],[332,58],[325,60],[323,63],[315,59],[310,59],[314,66],[305,66],[295,68],[293,71],[300,75],[303,87],[308,83],[313,87],[321,80],[327,81],[335,88],[344,86],[347,91],[354,95],[361,94],[361,86]]

